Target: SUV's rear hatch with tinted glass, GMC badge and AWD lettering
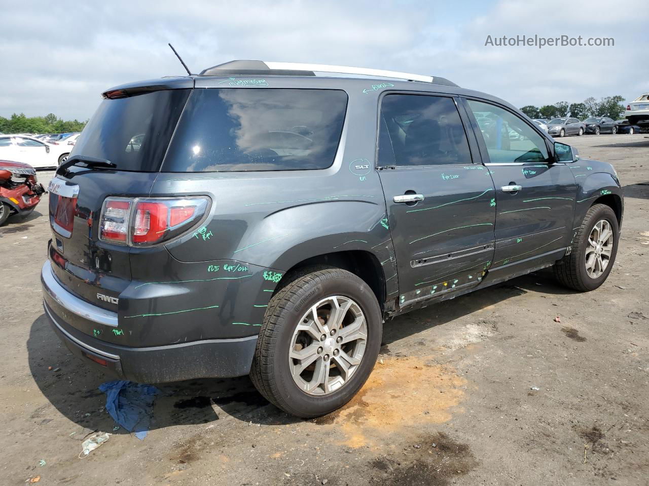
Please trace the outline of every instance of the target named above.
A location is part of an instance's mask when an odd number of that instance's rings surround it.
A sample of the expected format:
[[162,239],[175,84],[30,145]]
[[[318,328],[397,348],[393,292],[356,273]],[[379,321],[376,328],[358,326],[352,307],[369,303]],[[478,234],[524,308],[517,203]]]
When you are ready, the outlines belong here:
[[[148,87],[151,89],[151,87]],[[50,185],[50,259],[73,294],[117,310],[129,285],[129,247],[99,240],[107,196],[148,196],[191,89],[109,91]],[[77,159],[77,160],[75,160]]]

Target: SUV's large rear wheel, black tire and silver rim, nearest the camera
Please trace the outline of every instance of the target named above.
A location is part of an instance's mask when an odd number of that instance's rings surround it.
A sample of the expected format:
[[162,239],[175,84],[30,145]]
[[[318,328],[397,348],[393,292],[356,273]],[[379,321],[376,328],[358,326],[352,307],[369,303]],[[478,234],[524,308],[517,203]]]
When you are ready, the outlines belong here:
[[252,382],[287,413],[320,417],[363,386],[381,336],[381,310],[367,283],[340,268],[305,269],[271,298]]

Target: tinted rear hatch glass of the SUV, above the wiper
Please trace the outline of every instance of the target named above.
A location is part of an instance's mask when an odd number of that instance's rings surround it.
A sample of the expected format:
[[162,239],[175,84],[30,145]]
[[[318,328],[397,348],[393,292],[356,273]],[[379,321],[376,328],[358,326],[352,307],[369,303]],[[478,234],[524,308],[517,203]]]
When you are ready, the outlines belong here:
[[108,159],[119,170],[156,172],[189,94],[169,89],[103,100],[70,155]]

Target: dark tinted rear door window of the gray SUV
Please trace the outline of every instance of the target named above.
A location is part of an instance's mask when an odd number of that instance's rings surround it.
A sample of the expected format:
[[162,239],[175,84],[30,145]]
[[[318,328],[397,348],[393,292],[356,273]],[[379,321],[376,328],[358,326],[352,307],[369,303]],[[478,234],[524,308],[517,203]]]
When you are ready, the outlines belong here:
[[381,117],[378,165],[471,163],[467,135],[452,98],[387,95]]

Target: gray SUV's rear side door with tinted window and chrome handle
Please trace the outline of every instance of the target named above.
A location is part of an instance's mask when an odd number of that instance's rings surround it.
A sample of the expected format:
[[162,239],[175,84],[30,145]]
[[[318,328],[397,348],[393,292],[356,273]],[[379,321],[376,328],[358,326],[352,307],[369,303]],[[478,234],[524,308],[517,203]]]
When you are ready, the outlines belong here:
[[401,305],[475,286],[493,259],[494,187],[471,143],[453,97],[382,97],[377,167]]

